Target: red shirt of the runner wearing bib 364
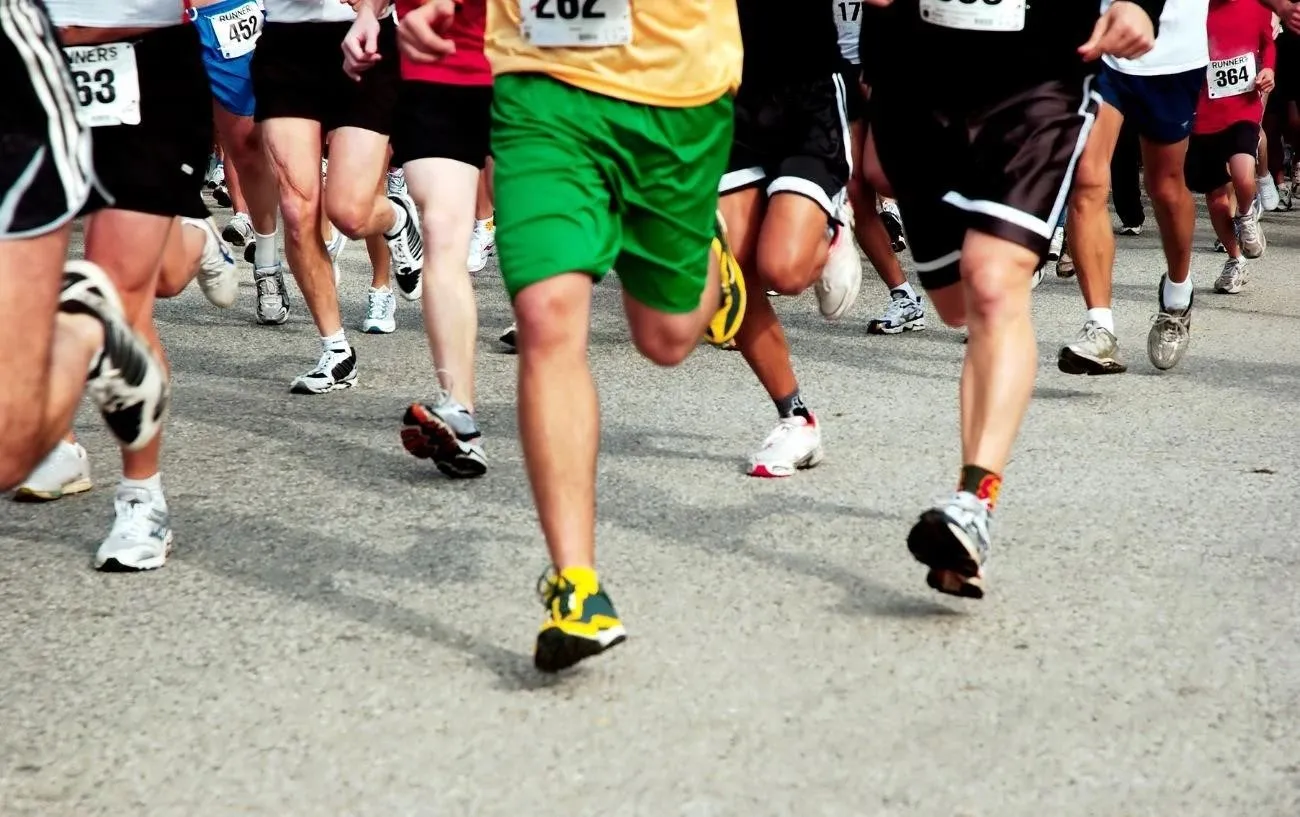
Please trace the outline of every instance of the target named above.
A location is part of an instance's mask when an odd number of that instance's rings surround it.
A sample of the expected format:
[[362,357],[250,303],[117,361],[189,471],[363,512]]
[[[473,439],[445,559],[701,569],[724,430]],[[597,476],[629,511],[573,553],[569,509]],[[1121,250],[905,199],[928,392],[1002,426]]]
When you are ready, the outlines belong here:
[[[1192,133],[1219,133],[1235,122],[1254,122],[1264,118],[1264,98],[1258,91],[1235,96],[1210,99],[1210,83],[1232,83],[1239,64],[1214,65],[1216,61],[1254,56],[1256,74],[1275,68],[1278,51],[1273,43],[1273,13],[1256,0],[1212,0],[1209,16],[1210,66],[1206,83],[1201,87],[1201,101],[1196,107]],[[1223,74],[1223,75],[1219,75]]]

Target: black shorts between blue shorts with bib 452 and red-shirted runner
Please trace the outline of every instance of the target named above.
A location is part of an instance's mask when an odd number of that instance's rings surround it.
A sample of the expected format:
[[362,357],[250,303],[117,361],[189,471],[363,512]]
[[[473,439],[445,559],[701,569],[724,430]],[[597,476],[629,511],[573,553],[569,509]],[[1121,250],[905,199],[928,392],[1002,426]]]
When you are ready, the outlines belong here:
[[343,73],[350,22],[268,22],[252,55],[254,120],[312,120],[329,133],[393,133],[400,69],[398,29],[380,22],[380,61],[354,82]]

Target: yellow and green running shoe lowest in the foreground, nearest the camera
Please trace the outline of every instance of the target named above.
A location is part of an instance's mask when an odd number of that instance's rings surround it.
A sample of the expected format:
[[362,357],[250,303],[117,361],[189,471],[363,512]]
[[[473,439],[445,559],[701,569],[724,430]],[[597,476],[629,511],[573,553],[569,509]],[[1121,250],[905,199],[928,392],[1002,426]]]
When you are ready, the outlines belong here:
[[590,567],[547,570],[537,583],[537,595],[546,605],[546,621],[537,634],[533,665],[543,673],[568,669],[628,637]]

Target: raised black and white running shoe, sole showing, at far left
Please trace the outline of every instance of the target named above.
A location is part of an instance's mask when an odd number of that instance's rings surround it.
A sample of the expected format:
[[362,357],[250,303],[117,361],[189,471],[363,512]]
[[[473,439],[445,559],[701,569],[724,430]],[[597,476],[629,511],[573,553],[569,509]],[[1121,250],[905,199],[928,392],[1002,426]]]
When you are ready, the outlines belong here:
[[86,375],[86,393],[124,446],[144,448],[162,428],[170,381],[148,341],[126,321],[113,282],[91,261],[68,261],[58,311],[103,324],[104,346]]

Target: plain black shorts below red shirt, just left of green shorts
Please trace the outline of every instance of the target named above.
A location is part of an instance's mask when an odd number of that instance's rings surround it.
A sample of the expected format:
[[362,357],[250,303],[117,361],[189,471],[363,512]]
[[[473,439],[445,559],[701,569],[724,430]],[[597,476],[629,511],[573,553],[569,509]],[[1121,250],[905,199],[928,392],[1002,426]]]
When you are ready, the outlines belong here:
[[480,170],[491,137],[491,86],[403,79],[393,124],[393,164],[454,159]]

